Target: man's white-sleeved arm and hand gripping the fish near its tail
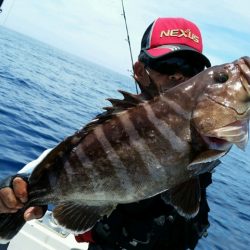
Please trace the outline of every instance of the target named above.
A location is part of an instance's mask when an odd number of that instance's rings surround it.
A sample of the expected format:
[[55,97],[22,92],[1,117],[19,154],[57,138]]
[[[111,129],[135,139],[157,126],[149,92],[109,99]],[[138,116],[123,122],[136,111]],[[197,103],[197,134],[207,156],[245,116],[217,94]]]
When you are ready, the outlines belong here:
[[[24,206],[28,200],[28,183],[21,174],[30,174],[42,159],[51,151],[44,151],[41,156],[24,166],[17,176],[10,176],[0,182],[0,213],[16,213],[18,209]],[[44,209],[41,207],[29,207],[24,213],[25,220],[31,220],[42,217]]]

